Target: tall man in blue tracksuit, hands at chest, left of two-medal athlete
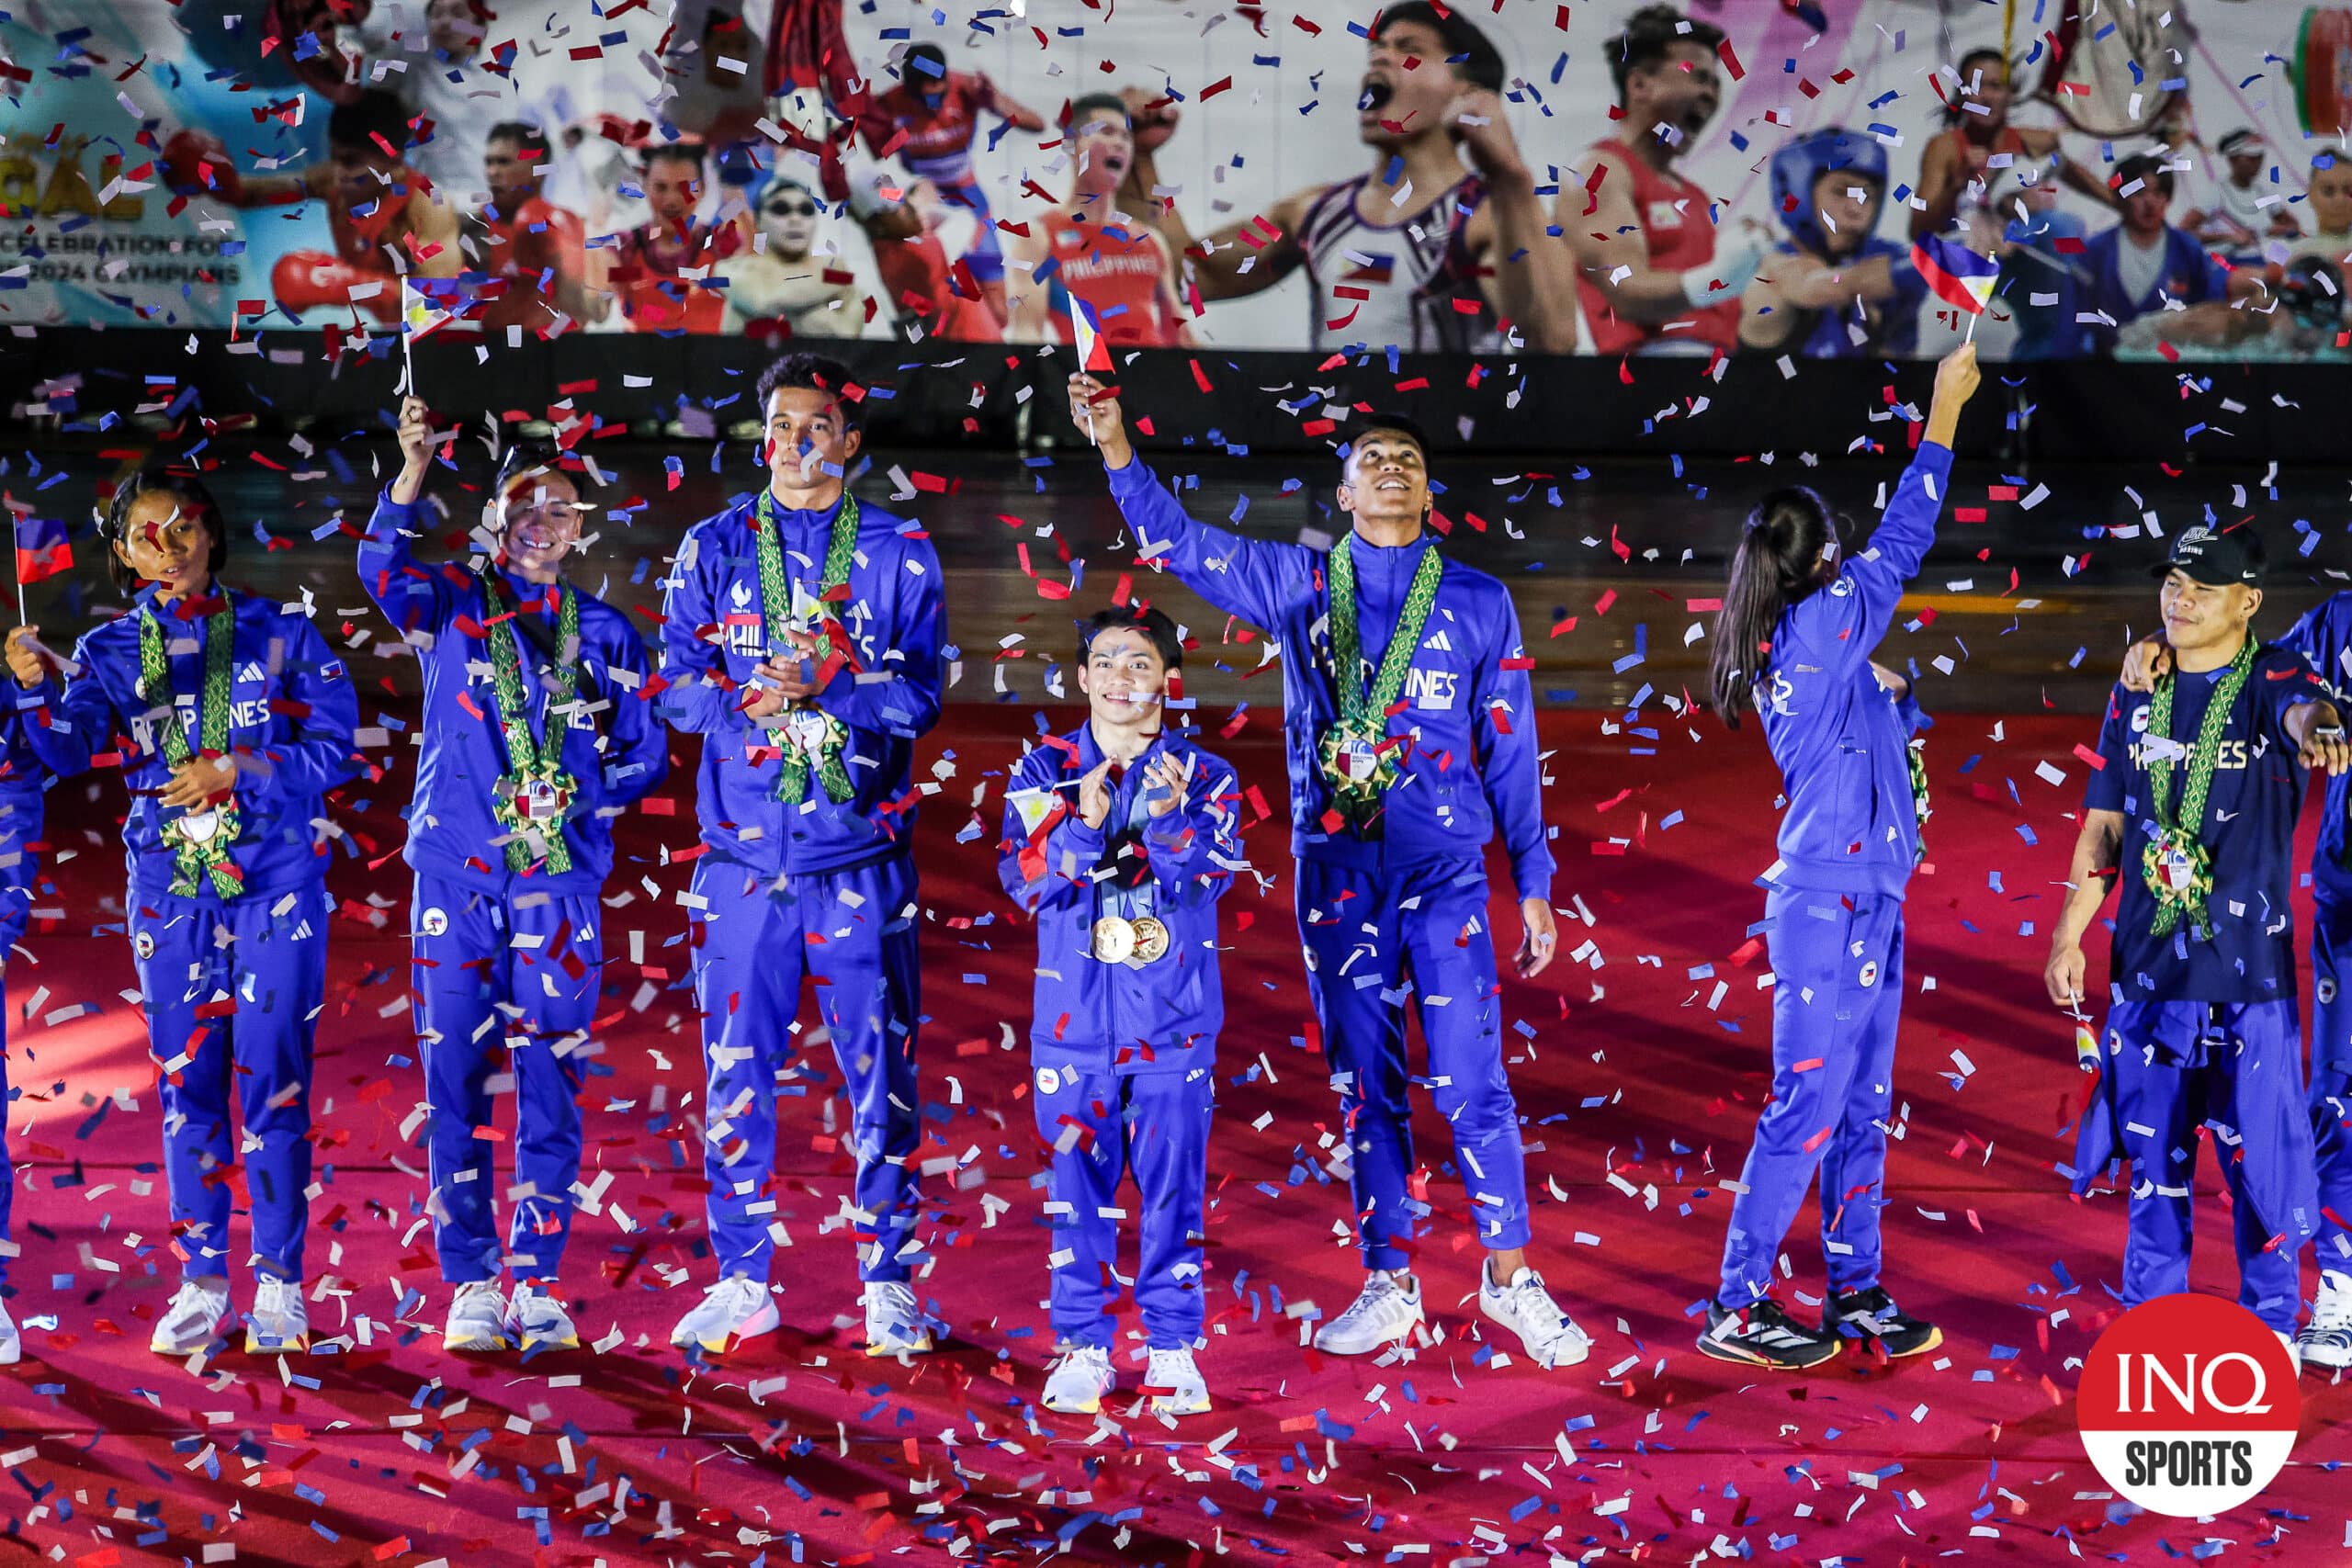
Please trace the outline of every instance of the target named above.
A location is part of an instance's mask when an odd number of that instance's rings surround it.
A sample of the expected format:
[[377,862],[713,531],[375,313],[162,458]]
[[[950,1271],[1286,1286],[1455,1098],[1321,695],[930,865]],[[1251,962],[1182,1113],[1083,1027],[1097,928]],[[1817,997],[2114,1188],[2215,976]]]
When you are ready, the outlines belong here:
[[[849,1095],[868,1354],[931,1347],[906,1284],[920,1131],[910,764],[938,719],[946,604],[917,524],[847,494],[861,444],[847,386],[844,367],[814,355],[769,367],[769,487],[687,531],[663,607],[654,710],[703,738],[689,914],[720,1269],[673,1342],[710,1352],[776,1326],[776,1074],[804,973]],[[842,508],[856,508],[847,548]]]

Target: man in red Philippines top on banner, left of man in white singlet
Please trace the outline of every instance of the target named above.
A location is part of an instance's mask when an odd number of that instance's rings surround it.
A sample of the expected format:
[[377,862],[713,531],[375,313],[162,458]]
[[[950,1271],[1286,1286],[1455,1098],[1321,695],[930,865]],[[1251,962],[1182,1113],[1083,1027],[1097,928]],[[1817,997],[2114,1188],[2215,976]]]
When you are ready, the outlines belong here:
[[1136,158],[1127,103],[1108,92],[1077,99],[1063,146],[1073,162],[1070,200],[1030,219],[1028,233],[1011,242],[1011,336],[1075,341],[1075,294],[1112,348],[1185,343],[1174,254],[1157,230],[1117,209],[1120,181]]

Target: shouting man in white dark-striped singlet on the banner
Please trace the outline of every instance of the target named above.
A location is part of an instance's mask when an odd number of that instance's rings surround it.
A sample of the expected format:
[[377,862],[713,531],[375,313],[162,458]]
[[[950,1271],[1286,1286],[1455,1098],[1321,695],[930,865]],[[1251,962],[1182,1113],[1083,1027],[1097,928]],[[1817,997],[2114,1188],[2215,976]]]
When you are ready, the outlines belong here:
[[1305,268],[1315,348],[1496,353],[1510,322],[1526,348],[1573,353],[1569,252],[1545,230],[1510,134],[1503,56],[1458,9],[1428,0],[1390,5],[1376,21],[1357,94],[1369,172],[1294,190],[1195,242],[1176,205],[1152,195],[1162,181],[1150,148],[1176,122],[1155,99],[1136,106],[1138,150],[1120,202],[1188,259],[1185,282],[1202,299],[1258,294]]

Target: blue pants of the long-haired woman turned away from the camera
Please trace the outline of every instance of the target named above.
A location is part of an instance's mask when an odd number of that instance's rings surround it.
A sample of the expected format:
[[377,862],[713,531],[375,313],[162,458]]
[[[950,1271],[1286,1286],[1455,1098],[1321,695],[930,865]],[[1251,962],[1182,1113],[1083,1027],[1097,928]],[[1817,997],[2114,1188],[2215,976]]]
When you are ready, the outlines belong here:
[[1886,1114],[1903,1011],[1903,900],[1778,886],[1764,898],[1771,957],[1771,1105],[1731,1199],[1717,1300],[1771,1288],[1773,1258],[1820,1171],[1830,1291],[1879,1281]]

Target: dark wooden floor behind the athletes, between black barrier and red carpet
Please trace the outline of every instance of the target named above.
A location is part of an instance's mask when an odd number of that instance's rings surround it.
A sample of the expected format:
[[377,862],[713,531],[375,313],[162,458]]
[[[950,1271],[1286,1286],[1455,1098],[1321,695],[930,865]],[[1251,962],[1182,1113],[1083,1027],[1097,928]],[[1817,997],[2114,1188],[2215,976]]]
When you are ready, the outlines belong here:
[[[350,527],[365,520],[393,451],[381,437],[327,444],[313,433],[313,442],[310,454],[285,444],[205,451],[219,463],[212,482],[223,508],[247,529],[233,538],[228,578],[289,599],[308,588],[320,604],[367,625],[374,611],[360,595],[350,538],[336,520]],[[82,569],[31,595],[49,642],[80,630],[113,602],[96,571],[96,545],[80,531],[99,480],[122,473],[129,451],[35,449],[31,456],[45,468],[28,475],[28,454],[16,447],[0,475],[14,496],[31,491],[42,512],[75,517]],[[722,473],[713,473],[715,451]],[[666,470],[670,456],[680,461],[675,489]],[[950,635],[962,651],[950,696],[1037,701],[1049,696],[1049,682],[1068,691],[1054,668],[1070,656],[1073,618],[1108,604],[1120,574],[1134,571],[1131,536],[1120,527],[1091,454],[868,456],[858,494],[922,520],[948,569]],[[680,534],[727,496],[757,484],[748,454],[734,442],[597,442],[595,461],[612,482],[595,489],[604,508],[600,534],[593,552],[574,564],[574,581],[623,604],[656,607]],[[1265,538],[1315,531],[1329,538],[1336,527],[1329,463],[1223,454],[1152,461],[1164,477],[1197,475],[1188,503],[1207,522]],[[1842,458],[1820,468],[1708,463],[1675,473],[1653,461],[1529,470],[1442,456],[1437,468],[1446,484],[1439,510],[1456,524],[1446,548],[1510,583],[1541,701],[1625,710],[1703,691],[1710,602],[1722,595],[1729,552],[1755,496],[1809,482],[1856,534],[1867,534],[1882,487],[1900,475],[1896,458]],[[452,520],[480,505],[487,470],[487,451],[475,447],[463,475],[435,473],[433,494],[449,503]],[[2253,517],[2272,559],[2286,562],[2272,574],[2270,607],[2258,621],[2260,630],[2281,632],[2305,607],[2352,583],[2352,548],[2343,541],[2345,475],[2300,470],[2277,475],[2270,489],[2263,477],[2138,468],[2129,475],[2004,475],[1966,463],[1955,477],[1938,545],[1882,658],[1917,665],[1931,710],[2091,712],[2103,703],[2129,630],[2154,621],[2147,567],[2164,557],[2164,538],[2152,529],[2169,538],[2199,522],[2241,517]],[[263,550],[252,529],[266,531],[270,548]],[[1075,592],[1047,597],[1040,578],[1056,588],[1075,583]],[[1204,654],[1185,672],[1192,696],[1211,705],[1279,705],[1279,675],[1261,670],[1258,644],[1221,646],[1228,639],[1223,614],[1171,578],[1148,583],[1138,576],[1138,592],[1157,595],[1202,639]],[[405,661],[388,672],[400,686],[414,679]],[[365,658],[362,677],[374,679]]]

